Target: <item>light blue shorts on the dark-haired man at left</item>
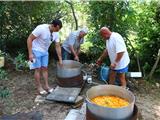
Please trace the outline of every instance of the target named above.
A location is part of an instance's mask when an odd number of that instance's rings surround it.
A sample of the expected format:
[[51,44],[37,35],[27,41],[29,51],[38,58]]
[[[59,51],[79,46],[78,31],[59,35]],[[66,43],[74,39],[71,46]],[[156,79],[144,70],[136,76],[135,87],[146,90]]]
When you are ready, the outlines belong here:
[[40,52],[33,50],[33,55],[36,59],[35,63],[32,64],[32,69],[48,67],[48,52]]

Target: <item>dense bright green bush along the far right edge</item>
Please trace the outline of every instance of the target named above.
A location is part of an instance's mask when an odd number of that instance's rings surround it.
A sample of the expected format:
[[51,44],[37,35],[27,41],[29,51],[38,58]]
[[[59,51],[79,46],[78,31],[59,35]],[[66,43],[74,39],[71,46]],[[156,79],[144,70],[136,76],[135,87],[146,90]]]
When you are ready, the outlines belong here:
[[[160,4],[158,1],[140,4],[138,13],[138,44],[143,68],[151,70],[160,48]],[[160,66],[160,65],[159,65]]]

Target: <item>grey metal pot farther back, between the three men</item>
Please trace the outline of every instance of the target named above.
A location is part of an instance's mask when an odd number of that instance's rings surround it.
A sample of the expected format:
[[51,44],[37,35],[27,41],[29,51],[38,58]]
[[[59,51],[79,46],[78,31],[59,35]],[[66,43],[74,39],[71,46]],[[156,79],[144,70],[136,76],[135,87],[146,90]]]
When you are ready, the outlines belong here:
[[71,78],[81,74],[82,64],[78,61],[63,60],[63,66],[57,64],[57,76],[59,78]]

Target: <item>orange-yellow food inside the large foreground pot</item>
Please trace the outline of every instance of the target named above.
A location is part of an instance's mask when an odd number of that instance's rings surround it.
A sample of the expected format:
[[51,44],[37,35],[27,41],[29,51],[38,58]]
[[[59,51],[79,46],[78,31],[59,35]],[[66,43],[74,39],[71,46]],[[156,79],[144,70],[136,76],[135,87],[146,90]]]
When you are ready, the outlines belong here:
[[110,108],[120,108],[129,105],[129,102],[126,99],[118,96],[97,96],[92,98],[91,101],[97,105]]

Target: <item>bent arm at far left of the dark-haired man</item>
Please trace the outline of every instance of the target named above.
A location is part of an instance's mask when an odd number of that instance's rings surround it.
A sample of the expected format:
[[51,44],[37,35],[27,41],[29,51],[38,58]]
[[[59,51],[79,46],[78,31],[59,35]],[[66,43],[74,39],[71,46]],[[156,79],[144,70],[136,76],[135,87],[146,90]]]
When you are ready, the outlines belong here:
[[30,34],[27,39],[27,47],[28,47],[28,54],[29,54],[29,60],[32,61],[34,56],[32,53],[32,41],[36,39],[36,37],[33,34]]

